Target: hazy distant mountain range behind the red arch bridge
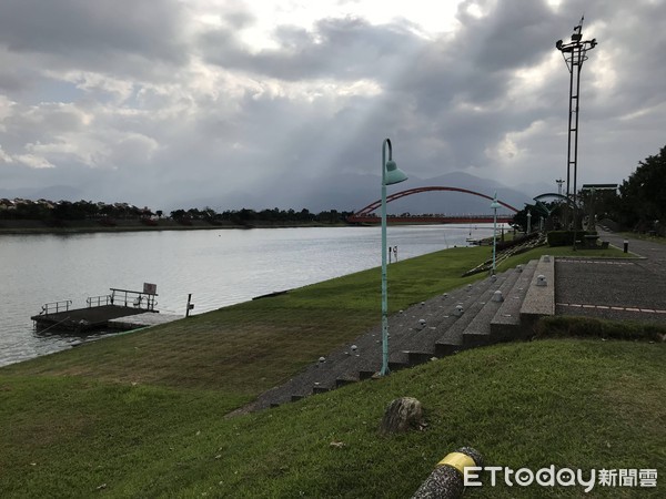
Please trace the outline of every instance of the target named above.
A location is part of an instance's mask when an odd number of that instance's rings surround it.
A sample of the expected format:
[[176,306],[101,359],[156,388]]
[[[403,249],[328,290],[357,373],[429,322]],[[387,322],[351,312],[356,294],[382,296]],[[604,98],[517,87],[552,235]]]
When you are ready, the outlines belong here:
[[[444,186],[461,187],[492,196],[497,191],[501,201],[513,205],[517,210],[523,208],[524,203],[532,202],[532,197],[544,192],[553,192],[547,184],[529,186],[506,186],[500,182],[481,179],[465,172],[452,172],[431,179],[411,176],[404,183],[390,185],[389,195],[415,187]],[[180,187],[183,187],[182,185]],[[93,191],[90,189],[89,191]],[[246,191],[230,191],[215,196],[188,196],[186,192],[192,189],[164,190],[161,195],[160,205],[154,205],[154,198],[149,193],[137,194],[130,201],[137,205],[148,205],[153,210],[163,210],[169,213],[178,208],[211,207],[218,212],[226,210],[252,208],[255,211],[264,208],[300,211],[307,208],[319,213],[324,210],[357,211],[377,201],[381,196],[381,179],[379,175],[343,173],[326,177],[286,177],[276,176],[268,185],[256,186]],[[53,185],[42,189],[1,190],[0,197],[27,197],[31,200],[46,198],[51,201],[128,201],[108,198],[95,198],[87,191],[67,185]],[[135,200],[134,200],[135,197]],[[426,192],[405,196],[387,205],[389,213],[445,213],[445,214],[487,214],[491,213],[490,201],[470,194],[456,192]],[[501,208],[498,213],[504,213]]]

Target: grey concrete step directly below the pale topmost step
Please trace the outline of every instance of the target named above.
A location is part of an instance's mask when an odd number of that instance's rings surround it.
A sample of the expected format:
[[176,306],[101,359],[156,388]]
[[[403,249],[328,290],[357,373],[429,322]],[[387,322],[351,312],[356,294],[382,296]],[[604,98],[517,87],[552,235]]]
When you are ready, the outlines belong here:
[[504,302],[491,320],[491,335],[498,342],[521,337],[521,307],[529,288],[538,261],[533,259],[522,267],[519,276],[504,296]]

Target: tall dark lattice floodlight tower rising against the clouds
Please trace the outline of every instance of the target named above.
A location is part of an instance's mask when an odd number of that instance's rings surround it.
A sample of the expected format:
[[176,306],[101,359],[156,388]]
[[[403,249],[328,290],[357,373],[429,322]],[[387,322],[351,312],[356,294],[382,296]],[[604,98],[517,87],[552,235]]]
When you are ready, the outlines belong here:
[[[557,40],[555,48],[562,52],[564,62],[569,71],[569,122],[568,122],[568,145],[567,145],[567,165],[566,165],[566,196],[572,196],[569,192],[569,185],[572,185],[572,170],[573,170],[573,201],[574,210],[576,210],[576,190],[577,190],[577,177],[578,177],[578,103],[581,96],[581,70],[583,69],[583,62],[587,60],[587,51],[594,49],[597,45],[596,38],[592,40],[583,41],[583,20],[581,18],[578,26],[574,28],[574,34],[572,34],[572,41],[569,43],[563,43],[562,40]],[[574,85],[575,82],[575,85]],[[576,220],[574,216],[574,226]]]

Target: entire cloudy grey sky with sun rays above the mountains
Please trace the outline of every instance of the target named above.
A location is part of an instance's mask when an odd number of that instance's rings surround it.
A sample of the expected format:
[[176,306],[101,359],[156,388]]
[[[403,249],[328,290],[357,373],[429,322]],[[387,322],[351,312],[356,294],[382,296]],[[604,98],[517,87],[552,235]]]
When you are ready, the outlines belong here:
[[666,144],[666,0],[2,0],[0,195],[300,207],[386,136],[414,182],[555,191],[582,14],[578,185],[619,183]]

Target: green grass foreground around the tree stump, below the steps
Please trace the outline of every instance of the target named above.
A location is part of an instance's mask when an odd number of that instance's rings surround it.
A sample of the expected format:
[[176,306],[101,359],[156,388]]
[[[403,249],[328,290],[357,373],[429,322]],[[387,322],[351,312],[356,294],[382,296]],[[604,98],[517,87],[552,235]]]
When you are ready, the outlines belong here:
[[[665,354],[646,343],[504,345],[233,419],[222,417],[234,403],[224,393],[3,377],[0,424],[11,431],[2,432],[0,492],[88,497],[105,486],[113,497],[410,497],[463,445],[514,469],[663,470]],[[404,395],[424,404],[428,428],[379,437],[384,407]],[[553,497],[581,495],[559,491]],[[606,497],[622,491],[632,489]],[[467,496],[535,493],[502,487]]]

